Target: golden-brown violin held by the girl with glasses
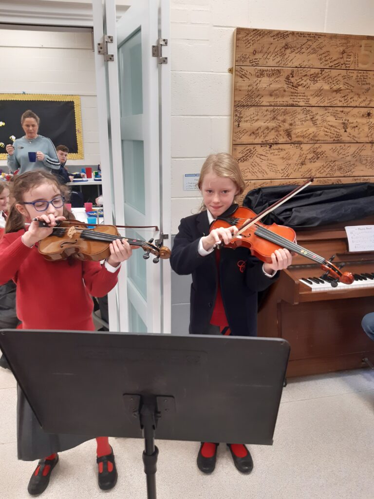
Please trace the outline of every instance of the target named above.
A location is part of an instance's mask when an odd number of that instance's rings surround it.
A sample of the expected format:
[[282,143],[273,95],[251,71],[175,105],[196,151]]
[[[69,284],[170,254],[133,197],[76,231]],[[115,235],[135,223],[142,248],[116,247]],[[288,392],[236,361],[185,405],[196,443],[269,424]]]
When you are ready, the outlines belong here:
[[[39,221],[39,227],[49,227]],[[38,251],[46,260],[64,260],[74,256],[80,260],[100,261],[110,256],[109,245],[116,239],[125,239],[131,246],[139,246],[145,253],[143,258],[148,259],[150,253],[155,255],[154,263],[159,259],[170,258],[171,250],[166,246],[157,246],[150,241],[124,238],[118,233],[114,225],[95,225],[88,229],[88,224],[78,220],[64,220],[53,227],[51,235],[39,241]],[[92,227],[92,224],[90,224]]]

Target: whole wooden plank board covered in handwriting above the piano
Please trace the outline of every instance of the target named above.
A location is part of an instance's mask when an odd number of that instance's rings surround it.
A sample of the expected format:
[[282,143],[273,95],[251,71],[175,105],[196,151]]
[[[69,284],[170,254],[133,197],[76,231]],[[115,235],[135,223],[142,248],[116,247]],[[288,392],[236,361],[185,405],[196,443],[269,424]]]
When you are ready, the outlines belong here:
[[247,191],[374,182],[374,36],[237,28],[233,74]]

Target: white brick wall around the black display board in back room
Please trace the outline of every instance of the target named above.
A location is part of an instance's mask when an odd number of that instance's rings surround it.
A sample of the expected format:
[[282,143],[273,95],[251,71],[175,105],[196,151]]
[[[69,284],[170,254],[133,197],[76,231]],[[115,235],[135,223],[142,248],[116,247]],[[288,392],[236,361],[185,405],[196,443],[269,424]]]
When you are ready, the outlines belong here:
[[[84,159],[68,164],[99,164],[91,33],[0,29],[0,60],[0,93],[81,96]],[[6,160],[0,161],[2,165]]]

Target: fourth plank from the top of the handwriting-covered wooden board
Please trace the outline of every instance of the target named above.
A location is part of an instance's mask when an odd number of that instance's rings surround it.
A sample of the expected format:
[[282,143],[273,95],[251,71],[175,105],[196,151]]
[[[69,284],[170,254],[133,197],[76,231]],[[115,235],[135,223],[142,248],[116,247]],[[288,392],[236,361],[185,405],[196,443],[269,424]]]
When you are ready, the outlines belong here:
[[369,177],[374,144],[234,145],[244,179]]

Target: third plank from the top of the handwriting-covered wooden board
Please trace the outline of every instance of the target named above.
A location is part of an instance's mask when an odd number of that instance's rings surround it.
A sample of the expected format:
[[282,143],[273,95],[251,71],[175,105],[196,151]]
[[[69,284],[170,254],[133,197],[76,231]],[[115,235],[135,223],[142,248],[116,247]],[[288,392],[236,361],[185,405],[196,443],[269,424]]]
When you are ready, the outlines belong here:
[[374,142],[374,112],[355,107],[234,107],[233,144]]

